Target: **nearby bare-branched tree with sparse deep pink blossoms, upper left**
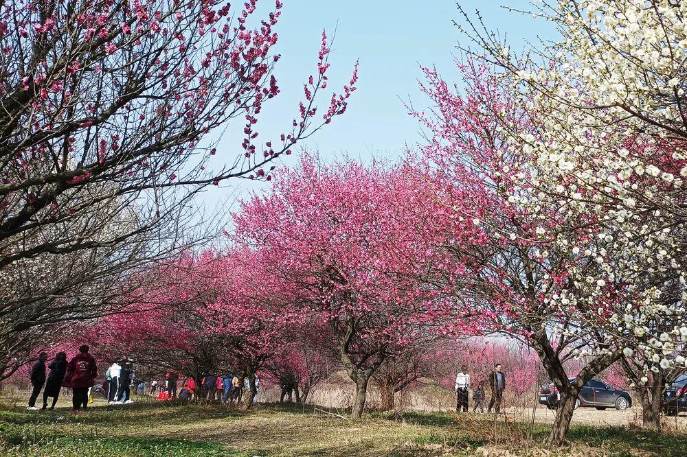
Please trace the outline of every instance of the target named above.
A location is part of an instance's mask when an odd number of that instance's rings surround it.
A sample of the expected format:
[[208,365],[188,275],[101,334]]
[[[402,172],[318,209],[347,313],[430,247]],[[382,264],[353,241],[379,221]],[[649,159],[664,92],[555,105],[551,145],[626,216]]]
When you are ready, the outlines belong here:
[[[125,306],[109,297],[128,294],[126,276],[203,238],[188,211],[199,191],[271,178],[271,161],[346,110],[356,71],[317,107],[328,85],[323,33],[293,119],[276,139],[260,139],[260,113],[280,93],[282,2],[264,16],[257,3],[3,3],[0,282],[10,293],[0,313],[15,325],[0,333],[0,353],[19,355],[11,341],[22,332],[37,339]],[[244,126],[238,153],[216,147],[214,133],[232,120]],[[21,277],[54,264],[70,268],[23,293]]]

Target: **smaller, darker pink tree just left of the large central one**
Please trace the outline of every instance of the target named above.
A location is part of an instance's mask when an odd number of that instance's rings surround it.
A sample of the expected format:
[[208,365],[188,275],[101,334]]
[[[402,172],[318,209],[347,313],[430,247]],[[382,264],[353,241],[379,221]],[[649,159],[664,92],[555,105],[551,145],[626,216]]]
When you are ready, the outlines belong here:
[[[245,408],[256,395],[256,372],[286,341],[285,321],[243,291],[251,274],[240,251],[205,251],[150,272],[167,278],[139,290],[122,312],[101,318],[88,334],[107,360],[131,356],[153,371],[178,371],[201,385],[205,375],[234,372],[249,380]],[[155,304],[155,306],[153,306]]]

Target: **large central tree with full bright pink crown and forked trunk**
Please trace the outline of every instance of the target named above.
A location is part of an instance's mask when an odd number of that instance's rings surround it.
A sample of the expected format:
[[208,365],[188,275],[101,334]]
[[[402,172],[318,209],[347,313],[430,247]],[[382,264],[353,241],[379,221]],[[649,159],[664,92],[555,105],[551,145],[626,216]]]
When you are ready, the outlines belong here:
[[[265,274],[282,283],[272,296],[328,329],[330,350],[356,384],[354,418],[379,366],[440,336],[437,329],[462,310],[418,281],[444,259],[435,239],[403,222],[423,197],[400,169],[324,167],[308,156],[235,218],[236,242],[256,250]],[[467,222],[454,241],[479,236]]]

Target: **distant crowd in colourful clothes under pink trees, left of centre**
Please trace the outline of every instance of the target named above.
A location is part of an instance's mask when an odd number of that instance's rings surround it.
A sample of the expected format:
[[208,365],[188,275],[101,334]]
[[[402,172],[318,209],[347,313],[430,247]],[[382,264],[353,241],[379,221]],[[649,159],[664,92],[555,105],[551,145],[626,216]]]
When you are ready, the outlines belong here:
[[[178,373],[167,373],[165,375],[165,389],[160,389],[158,399],[173,399],[177,397],[177,384],[179,382]],[[260,377],[256,374],[256,389],[260,388]],[[150,383],[150,394],[155,395],[157,386],[160,385],[157,380]],[[241,380],[234,373],[227,373],[226,375],[210,375],[201,379],[201,386],[205,389],[205,399],[209,401],[222,401],[223,403],[238,401],[241,396]],[[247,390],[250,389],[249,379],[245,379],[244,386]],[[197,386],[193,377],[186,378],[181,384],[179,391],[179,399],[190,400],[198,399],[199,395],[196,392]],[[257,395],[256,395],[257,397]],[[254,399],[255,401],[255,399]]]

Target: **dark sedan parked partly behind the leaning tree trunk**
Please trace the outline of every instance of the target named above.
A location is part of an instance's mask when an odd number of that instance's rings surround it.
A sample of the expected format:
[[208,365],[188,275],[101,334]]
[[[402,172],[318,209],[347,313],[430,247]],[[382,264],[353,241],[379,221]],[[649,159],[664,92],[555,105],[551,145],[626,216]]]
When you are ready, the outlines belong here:
[[[572,382],[574,379],[570,379]],[[545,405],[550,410],[558,406],[559,393],[554,384],[543,385],[539,389],[539,404]],[[599,381],[590,379],[580,390],[580,394],[575,402],[575,408],[579,406],[605,410],[606,408],[616,408],[616,410],[627,410],[632,406],[632,397],[624,390]]]

